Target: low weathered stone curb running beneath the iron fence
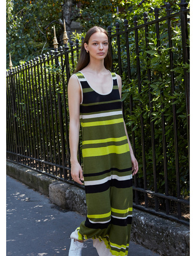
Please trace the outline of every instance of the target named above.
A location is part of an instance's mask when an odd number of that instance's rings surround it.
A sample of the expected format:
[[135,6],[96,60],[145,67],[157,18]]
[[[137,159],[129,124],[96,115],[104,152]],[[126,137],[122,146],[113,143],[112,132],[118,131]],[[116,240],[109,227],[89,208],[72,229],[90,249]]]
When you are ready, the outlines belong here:
[[[69,183],[6,162],[7,174],[49,196],[63,209],[86,215],[85,191]],[[163,256],[189,256],[190,230],[187,226],[134,209],[131,240]]]

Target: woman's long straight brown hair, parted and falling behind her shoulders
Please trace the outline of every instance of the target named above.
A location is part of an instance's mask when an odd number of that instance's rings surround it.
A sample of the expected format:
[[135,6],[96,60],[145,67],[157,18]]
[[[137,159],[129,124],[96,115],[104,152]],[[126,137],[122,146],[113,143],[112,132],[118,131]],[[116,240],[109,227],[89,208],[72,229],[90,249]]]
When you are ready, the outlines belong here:
[[[83,68],[85,68],[89,62],[90,62],[90,55],[89,53],[86,52],[85,50],[85,46],[84,44],[88,44],[89,42],[89,38],[96,32],[103,32],[107,37],[108,37],[108,33],[107,31],[102,28],[102,27],[97,27],[97,26],[94,26],[94,27],[91,27],[87,33],[86,33],[86,36],[85,36],[85,39],[83,40],[82,42],[82,46],[81,46],[81,50],[80,50],[80,57],[79,57],[79,60],[78,60],[78,63],[77,63],[77,67],[74,71],[74,73],[82,70]],[[109,37],[108,37],[109,39]],[[111,69],[111,53],[110,53],[110,47],[108,48],[108,54],[106,55],[106,57],[104,58],[104,66],[106,69],[110,70]]]

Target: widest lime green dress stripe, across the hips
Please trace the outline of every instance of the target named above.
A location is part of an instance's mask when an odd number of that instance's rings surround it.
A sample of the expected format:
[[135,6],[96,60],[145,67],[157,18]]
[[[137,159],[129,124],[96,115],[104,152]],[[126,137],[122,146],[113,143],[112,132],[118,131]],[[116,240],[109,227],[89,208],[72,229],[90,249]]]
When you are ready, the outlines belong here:
[[103,146],[100,148],[85,148],[82,150],[83,157],[108,155],[111,153],[123,154],[129,151],[128,143],[120,146]]

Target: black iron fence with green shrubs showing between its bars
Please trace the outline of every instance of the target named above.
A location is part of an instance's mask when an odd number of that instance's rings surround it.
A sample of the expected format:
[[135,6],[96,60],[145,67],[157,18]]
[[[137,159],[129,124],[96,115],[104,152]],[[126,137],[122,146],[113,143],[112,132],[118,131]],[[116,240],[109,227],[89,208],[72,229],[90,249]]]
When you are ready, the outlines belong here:
[[[189,9],[108,27],[111,71],[122,77],[122,108],[139,163],[134,207],[189,224]],[[120,29],[123,27],[124,29]],[[65,33],[66,35],[66,33]],[[70,174],[67,85],[79,40],[7,71],[7,160],[75,183]],[[81,38],[81,41],[83,38]],[[81,43],[81,42],[80,42]],[[83,166],[81,132],[78,161]],[[84,188],[84,186],[80,186]]]

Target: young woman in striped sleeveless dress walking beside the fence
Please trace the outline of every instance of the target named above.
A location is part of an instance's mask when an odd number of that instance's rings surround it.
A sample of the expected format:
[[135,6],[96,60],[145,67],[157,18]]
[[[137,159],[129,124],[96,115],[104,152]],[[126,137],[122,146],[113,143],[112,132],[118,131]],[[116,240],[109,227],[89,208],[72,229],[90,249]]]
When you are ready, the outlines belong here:
[[[86,220],[71,234],[69,256],[81,256],[89,238],[99,256],[128,254],[138,164],[122,116],[121,78],[109,71],[108,46],[102,27],[89,29],[68,82],[71,175],[79,184],[84,176],[87,204]],[[77,161],[80,122],[83,170]]]

